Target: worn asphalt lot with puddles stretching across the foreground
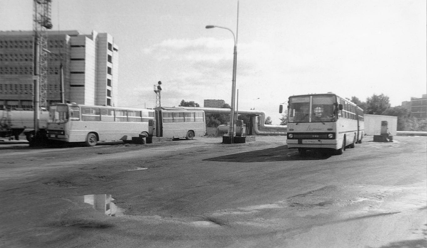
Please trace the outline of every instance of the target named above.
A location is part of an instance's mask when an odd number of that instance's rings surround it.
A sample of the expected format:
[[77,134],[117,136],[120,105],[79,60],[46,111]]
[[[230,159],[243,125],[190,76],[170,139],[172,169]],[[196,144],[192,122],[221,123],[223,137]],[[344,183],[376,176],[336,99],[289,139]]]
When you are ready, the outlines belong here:
[[285,144],[0,141],[0,247],[427,247],[426,137]]

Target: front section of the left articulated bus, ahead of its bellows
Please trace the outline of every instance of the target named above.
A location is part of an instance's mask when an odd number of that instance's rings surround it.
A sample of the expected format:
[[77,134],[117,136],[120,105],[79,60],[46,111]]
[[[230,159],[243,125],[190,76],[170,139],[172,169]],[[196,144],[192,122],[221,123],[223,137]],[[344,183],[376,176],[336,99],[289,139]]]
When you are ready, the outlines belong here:
[[65,142],[132,141],[149,136],[154,110],[121,107],[53,104],[47,121],[47,138]]

